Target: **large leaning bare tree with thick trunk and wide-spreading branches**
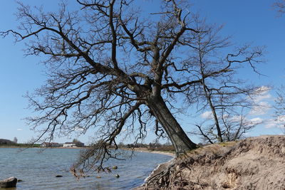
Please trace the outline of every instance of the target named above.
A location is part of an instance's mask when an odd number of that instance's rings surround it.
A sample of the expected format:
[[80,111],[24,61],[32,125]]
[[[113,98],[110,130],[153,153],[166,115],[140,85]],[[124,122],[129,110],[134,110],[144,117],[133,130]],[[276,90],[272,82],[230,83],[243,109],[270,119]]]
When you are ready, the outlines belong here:
[[185,98],[191,105],[207,78],[227,77],[234,63],[254,64],[261,54],[237,51],[200,75],[192,63],[196,34],[208,38],[212,33],[211,28],[199,26],[187,5],[161,1],[157,13],[145,16],[136,1],[77,2],[78,11],[60,4],[60,11],[48,13],[20,3],[19,31],[1,32],[26,41],[26,55],[46,58],[46,85],[27,95],[39,113],[28,118],[41,134],[38,139],[75,130],[97,131],[98,141],[83,152],[75,173],[104,169],[103,162],[116,157],[109,147],[118,148],[119,134],[135,134],[138,142],[153,123],[155,134],[166,132],[177,156],[195,149],[172,113],[180,108],[175,101]]

